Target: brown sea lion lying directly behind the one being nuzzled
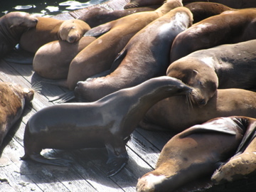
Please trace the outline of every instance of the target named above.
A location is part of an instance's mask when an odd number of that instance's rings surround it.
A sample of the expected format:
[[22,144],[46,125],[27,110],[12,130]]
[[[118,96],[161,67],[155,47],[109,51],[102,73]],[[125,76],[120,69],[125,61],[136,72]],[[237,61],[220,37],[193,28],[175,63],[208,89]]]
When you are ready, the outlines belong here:
[[193,24],[174,39],[171,63],[196,50],[255,39],[255,18],[256,9],[240,9],[225,11]]

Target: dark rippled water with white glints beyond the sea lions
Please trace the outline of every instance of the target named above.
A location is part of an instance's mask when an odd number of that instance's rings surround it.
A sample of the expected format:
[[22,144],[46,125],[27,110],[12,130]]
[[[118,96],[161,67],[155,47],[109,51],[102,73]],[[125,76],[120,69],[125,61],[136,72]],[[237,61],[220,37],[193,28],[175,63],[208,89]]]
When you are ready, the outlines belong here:
[[10,11],[25,11],[31,14],[55,15],[65,11],[82,9],[84,7],[100,4],[106,0],[88,0],[88,1],[53,1],[53,0],[21,0],[21,1],[5,1],[0,6],[0,16]]

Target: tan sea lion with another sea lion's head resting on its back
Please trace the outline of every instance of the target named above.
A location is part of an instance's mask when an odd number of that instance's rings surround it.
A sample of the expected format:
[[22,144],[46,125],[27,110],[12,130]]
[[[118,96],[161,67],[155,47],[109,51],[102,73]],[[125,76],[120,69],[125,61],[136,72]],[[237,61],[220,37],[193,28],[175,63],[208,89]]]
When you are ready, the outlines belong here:
[[88,46],[95,37],[82,37],[75,43],[52,41],[41,46],[33,58],[33,70],[43,78],[62,79],[68,77],[70,62]]

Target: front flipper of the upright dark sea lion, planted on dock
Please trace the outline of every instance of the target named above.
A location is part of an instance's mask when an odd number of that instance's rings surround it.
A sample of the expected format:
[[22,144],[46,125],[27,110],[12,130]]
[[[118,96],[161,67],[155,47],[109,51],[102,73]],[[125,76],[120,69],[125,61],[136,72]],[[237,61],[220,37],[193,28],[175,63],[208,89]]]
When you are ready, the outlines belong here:
[[124,140],[105,144],[105,146],[109,156],[107,159],[107,176],[114,176],[127,164],[129,156],[125,149]]

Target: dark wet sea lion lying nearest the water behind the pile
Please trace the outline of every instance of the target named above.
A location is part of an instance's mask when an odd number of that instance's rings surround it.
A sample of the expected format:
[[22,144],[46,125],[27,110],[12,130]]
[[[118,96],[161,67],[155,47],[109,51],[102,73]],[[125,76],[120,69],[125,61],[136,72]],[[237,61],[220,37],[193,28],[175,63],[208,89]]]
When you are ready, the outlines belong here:
[[[159,4],[159,6],[161,6]],[[143,11],[154,11],[159,8],[159,6],[144,6],[133,9],[125,10],[110,10],[105,7],[95,7],[90,9],[86,14],[79,16],[78,18],[82,21],[85,21],[91,28],[95,26],[100,26],[104,23],[114,21],[118,18],[128,16],[130,14],[135,14]]]

